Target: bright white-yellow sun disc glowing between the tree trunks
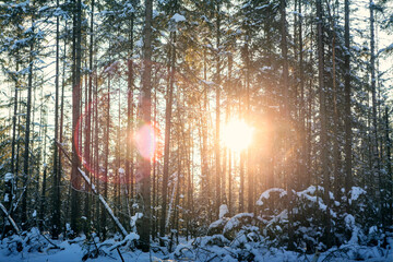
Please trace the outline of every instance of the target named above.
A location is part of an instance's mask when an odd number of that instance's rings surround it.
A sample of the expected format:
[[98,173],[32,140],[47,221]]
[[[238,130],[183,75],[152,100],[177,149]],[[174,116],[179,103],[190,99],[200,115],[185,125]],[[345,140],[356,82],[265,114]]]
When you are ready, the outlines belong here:
[[222,141],[229,150],[240,153],[250,146],[253,128],[243,120],[230,120],[223,127]]

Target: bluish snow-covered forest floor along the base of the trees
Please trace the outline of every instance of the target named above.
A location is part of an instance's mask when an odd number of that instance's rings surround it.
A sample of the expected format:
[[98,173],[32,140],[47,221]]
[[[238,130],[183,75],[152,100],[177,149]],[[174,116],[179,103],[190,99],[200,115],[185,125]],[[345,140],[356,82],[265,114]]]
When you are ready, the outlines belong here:
[[[124,239],[120,236],[98,242],[98,238],[85,236],[72,240],[51,240],[38,229],[4,238],[0,243],[0,261],[28,262],[73,262],[73,261],[393,261],[393,238],[388,238],[386,248],[359,245],[343,245],[322,253],[306,254],[269,247],[263,240],[238,245],[219,243],[222,235],[199,237],[179,245],[172,252],[152,243],[150,253],[144,253],[133,246],[135,234]],[[215,240],[214,240],[215,239]],[[214,245],[218,243],[218,246]],[[223,245],[224,243],[224,245]]]

